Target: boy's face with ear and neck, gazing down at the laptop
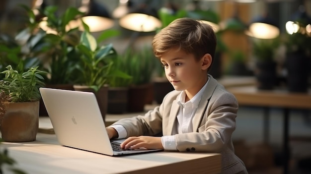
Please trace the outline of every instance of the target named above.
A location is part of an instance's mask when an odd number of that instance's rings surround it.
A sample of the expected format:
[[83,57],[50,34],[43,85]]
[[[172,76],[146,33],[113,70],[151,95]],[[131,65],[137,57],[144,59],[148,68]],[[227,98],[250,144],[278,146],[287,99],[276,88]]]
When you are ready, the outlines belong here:
[[195,95],[207,81],[206,60],[195,59],[193,54],[182,50],[170,49],[160,61],[164,66],[166,78],[177,91],[185,90]]

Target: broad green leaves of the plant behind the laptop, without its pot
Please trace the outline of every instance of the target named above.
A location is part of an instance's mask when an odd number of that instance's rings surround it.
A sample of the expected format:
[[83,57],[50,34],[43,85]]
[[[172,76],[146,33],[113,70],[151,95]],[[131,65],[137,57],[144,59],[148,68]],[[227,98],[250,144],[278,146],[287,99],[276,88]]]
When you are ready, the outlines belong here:
[[128,74],[114,67],[113,60],[117,58],[117,52],[113,45],[99,46],[99,42],[112,36],[111,31],[104,31],[96,40],[90,34],[88,26],[85,23],[83,23],[83,26],[84,32],[81,34],[77,46],[78,51],[81,53],[79,62],[76,64],[79,72],[78,83],[98,91],[104,84],[108,84],[112,78],[130,78]]

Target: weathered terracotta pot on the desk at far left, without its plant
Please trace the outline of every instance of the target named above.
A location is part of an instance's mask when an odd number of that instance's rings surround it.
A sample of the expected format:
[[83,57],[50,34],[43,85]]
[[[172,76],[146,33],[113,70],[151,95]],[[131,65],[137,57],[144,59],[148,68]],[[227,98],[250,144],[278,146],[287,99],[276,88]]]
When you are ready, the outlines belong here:
[[0,125],[4,141],[36,140],[39,129],[39,101],[6,103],[5,110]]

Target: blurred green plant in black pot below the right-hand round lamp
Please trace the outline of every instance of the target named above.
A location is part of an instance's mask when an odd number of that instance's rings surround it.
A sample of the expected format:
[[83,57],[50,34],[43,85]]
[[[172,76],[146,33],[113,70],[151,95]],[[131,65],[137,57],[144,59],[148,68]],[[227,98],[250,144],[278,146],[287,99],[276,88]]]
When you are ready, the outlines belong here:
[[277,63],[275,51],[279,47],[279,38],[253,38],[253,55],[255,57],[255,71],[258,89],[273,89],[277,84]]

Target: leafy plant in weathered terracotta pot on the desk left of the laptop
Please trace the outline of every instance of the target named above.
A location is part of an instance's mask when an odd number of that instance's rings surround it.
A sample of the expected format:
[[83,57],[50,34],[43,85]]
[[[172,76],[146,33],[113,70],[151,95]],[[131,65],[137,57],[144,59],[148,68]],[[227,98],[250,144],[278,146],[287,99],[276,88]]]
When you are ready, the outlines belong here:
[[44,86],[45,71],[38,67],[18,72],[11,65],[0,81],[1,111],[0,131],[2,139],[9,142],[25,142],[36,139],[39,126],[39,88]]

